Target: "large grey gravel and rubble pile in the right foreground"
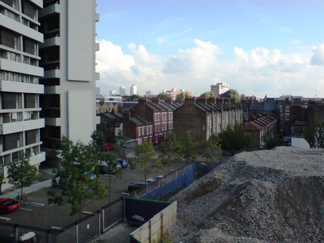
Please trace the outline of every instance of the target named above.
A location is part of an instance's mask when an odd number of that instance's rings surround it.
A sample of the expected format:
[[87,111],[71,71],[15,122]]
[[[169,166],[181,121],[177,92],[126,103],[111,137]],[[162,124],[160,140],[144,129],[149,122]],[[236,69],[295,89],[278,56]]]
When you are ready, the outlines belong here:
[[324,149],[243,152],[171,200],[172,242],[324,242]]

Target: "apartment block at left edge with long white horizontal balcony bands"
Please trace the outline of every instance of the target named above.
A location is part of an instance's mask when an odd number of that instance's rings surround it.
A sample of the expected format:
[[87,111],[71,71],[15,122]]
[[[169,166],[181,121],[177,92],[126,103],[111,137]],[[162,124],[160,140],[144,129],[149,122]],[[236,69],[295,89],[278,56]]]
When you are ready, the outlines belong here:
[[[44,93],[38,53],[42,8],[41,0],[0,0],[0,174],[5,178],[7,166],[23,153],[35,167],[45,160],[39,131],[45,126],[39,118],[39,95]],[[11,186],[5,180],[2,189]]]

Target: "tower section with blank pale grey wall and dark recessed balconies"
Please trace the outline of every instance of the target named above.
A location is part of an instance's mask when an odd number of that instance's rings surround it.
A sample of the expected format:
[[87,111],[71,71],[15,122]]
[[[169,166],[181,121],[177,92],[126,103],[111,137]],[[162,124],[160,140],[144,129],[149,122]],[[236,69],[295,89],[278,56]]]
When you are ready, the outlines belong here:
[[[33,1],[39,2],[39,1]],[[39,11],[44,34],[40,45],[40,66],[44,68],[45,94],[39,103],[45,128],[41,130],[44,149],[51,149],[62,135],[73,142],[88,143],[96,129],[95,0],[44,0]]]

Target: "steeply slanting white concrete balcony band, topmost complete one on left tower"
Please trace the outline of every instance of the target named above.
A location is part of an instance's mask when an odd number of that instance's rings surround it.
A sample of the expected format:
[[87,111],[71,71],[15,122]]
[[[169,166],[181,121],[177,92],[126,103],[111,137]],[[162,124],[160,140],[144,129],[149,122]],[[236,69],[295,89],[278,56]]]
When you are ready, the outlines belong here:
[[0,26],[4,26],[5,28],[27,36],[36,42],[43,43],[42,33],[17,22],[16,20],[13,20],[6,15],[0,14]]

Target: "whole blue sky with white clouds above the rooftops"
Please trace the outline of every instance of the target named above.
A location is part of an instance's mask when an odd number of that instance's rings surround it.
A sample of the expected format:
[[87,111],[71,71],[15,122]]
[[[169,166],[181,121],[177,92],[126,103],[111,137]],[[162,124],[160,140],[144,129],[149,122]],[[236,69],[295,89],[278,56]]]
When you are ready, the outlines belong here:
[[323,0],[97,0],[100,93],[324,98]]

